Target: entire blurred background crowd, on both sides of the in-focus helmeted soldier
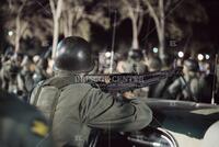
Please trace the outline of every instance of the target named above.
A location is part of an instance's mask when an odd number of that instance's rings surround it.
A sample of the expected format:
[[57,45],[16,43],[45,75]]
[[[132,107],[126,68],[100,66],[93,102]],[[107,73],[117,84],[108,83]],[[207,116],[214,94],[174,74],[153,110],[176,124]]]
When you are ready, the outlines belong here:
[[[102,54],[105,55],[105,54]],[[97,63],[97,64],[96,64]],[[92,74],[111,74],[111,55],[99,56]],[[172,69],[174,66],[184,67],[184,76],[169,77],[157,84],[132,91],[136,97],[188,100],[210,103],[214,90],[217,93],[217,79],[212,74],[209,61],[198,63],[196,59],[175,59],[166,55],[146,56],[140,49],[131,49],[126,55],[119,55],[113,63],[112,72],[145,74]],[[42,80],[53,75],[53,60],[45,56],[33,57],[25,54],[7,52],[1,55],[0,84],[9,93],[15,93],[22,100],[27,100],[33,88]],[[215,79],[214,79],[215,78]],[[217,80],[216,80],[217,81]],[[215,89],[216,88],[216,89]],[[204,90],[205,89],[205,90]]]

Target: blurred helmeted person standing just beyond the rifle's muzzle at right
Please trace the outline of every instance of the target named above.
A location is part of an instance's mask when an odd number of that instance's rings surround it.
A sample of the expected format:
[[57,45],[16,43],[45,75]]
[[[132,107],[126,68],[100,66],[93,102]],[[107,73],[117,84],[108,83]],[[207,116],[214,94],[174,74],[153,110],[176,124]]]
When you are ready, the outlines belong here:
[[198,71],[199,66],[197,60],[185,60],[183,66],[184,76],[176,79],[168,89],[170,98],[176,100],[197,101],[197,98],[201,92]]

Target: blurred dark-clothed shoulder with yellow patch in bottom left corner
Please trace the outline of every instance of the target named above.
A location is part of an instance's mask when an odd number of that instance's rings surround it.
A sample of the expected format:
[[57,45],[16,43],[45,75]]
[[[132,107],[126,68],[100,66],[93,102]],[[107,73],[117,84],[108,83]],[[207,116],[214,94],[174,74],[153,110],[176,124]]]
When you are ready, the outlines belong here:
[[43,115],[13,94],[0,91],[0,146],[53,147]]

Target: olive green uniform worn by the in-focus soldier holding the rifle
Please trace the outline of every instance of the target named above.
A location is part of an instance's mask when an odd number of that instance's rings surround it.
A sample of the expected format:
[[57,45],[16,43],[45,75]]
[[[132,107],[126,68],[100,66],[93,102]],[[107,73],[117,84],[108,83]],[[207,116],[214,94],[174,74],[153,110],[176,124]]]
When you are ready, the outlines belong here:
[[[65,82],[70,84],[65,86]],[[143,128],[152,120],[143,102],[117,101],[100,89],[79,83],[68,71],[59,71],[36,87],[31,103],[51,121],[58,146],[87,145],[92,128],[129,132]]]

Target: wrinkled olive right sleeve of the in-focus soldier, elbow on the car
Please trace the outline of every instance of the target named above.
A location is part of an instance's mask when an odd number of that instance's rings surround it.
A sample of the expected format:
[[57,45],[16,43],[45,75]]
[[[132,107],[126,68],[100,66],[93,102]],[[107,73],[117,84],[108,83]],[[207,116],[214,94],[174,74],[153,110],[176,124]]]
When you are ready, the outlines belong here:
[[139,100],[117,101],[108,93],[92,89],[79,106],[82,123],[90,127],[130,132],[146,127],[152,112]]

